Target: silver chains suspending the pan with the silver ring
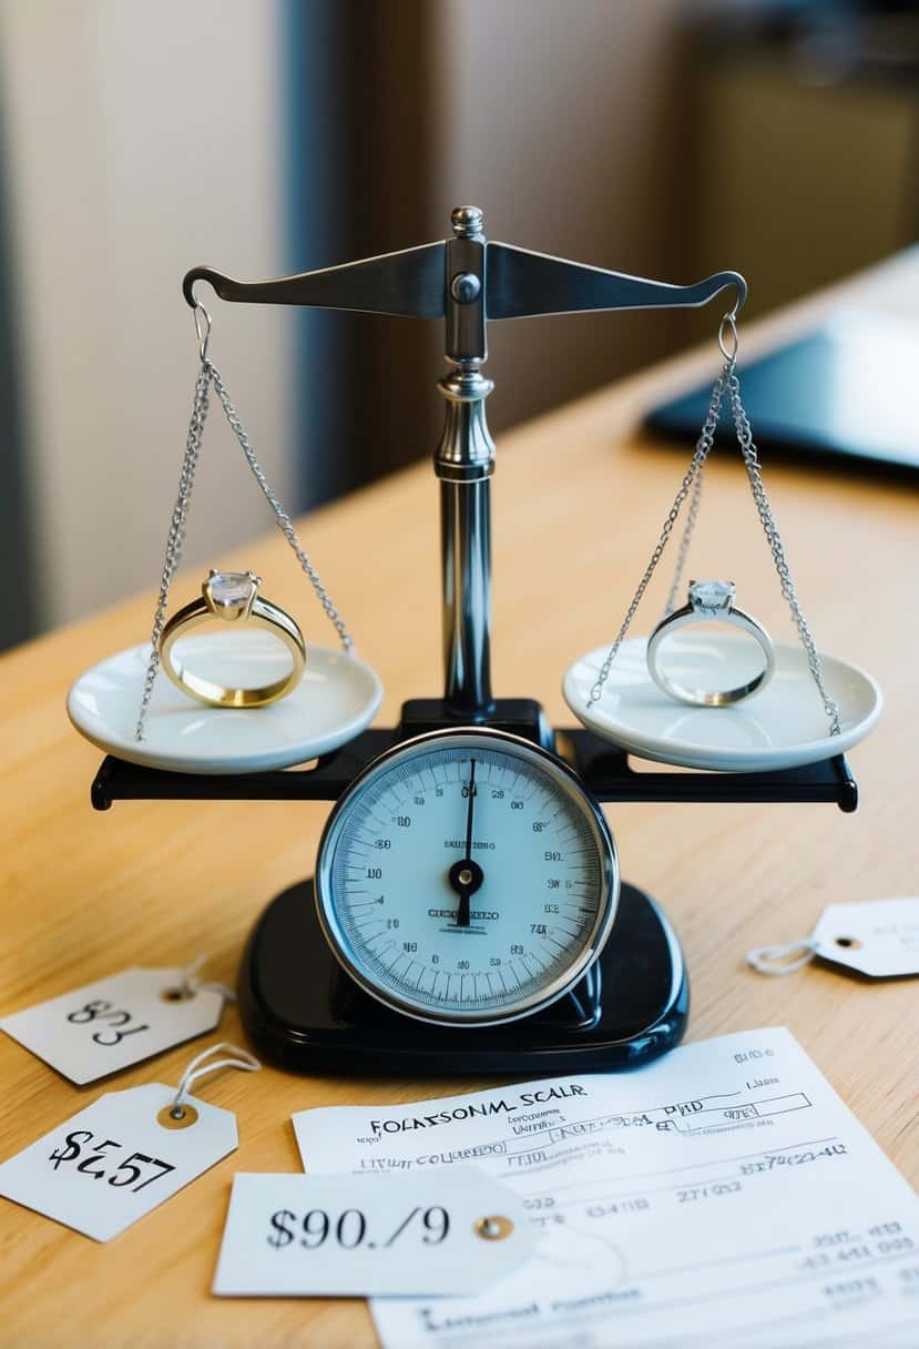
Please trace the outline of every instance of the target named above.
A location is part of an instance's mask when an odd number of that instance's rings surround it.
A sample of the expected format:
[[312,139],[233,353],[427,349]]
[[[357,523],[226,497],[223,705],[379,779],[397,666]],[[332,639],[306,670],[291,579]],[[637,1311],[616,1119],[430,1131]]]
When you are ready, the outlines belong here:
[[[733,335],[733,349],[730,351],[725,348],[725,341],[724,341],[725,324],[729,325],[730,332]],[[791,579],[791,572],[788,569],[788,561],[786,558],[786,552],[782,544],[782,538],[779,536],[779,526],[776,525],[775,515],[772,514],[772,507],[769,505],[769,498],[765,492],[765,484],[763,483],[763,471],[760,468],[759,452],[756,449],[756,445],[753,444],[753,432],[747,411],[744,409],[744,405],[741,402],[740,379],[737,378],[736,372],[737,328],[732,314],[726,314],[725,318],[722,318],[721,321],[721,328],[718,331],[718,345],[721,347],[722,355],[725,356],[725,364],[711,390],[711,402],[709,403],[709,411],[705,418],[705,425],[702,426],[702,433],[699,434],[699,438],[695,445],[695,453],[693,455],[690,467],[686,471],[683,482],[680,483],[680,488],[676,492],[674,505],[670,509],[670,514],[664,521],[664,526],[660,532],[660,538],[658,540],[658,546],[651,554],[651,561],[648,563],[648,567],[645,568],[639,588],[635,592],[635,598],[632,599],[632,603],[628,607],[625,619],[623,621],[623,626],[619,630],[616,641],[606,653],[606,658],[604,660],[604,664],[600,668],[600,674],[597,676],[596,684],[590,689],[590,701],[588,703],[588,707],[593,707],[593,704],[597,703],[602,695],[604,685],[609,679],[609,672],[612,669],[613,661],[619,654],[619,649],[623,645],[623,641],[625,639],[625,634],[628,633],[629,625],[635,618],[635,612],[639,604],[641,603],[641,598],[648,587],[654,571],[658,563],[660,561],[664,548],[667,546],[667,541],[672,533],[674,525],[676,523],[676,518],[680,513],[683,502],[686,500],[691,490],[693,499],[690,500],[690,509],[686,518],[686,525],[683,527],[683,536],[680,538],[679,552],[676,554],[676,567],[674,569],[674,579],[670,587],[670,594],[667,595],[664,616],[667,616],[674,611],[680,583],[683,579],[683,569],[686,567],[686,556],[689,553],[689,546],[693,537],[693,529],[695,527],[695,521],[699,513],[699,505],[702,499],[702,469],[705,467],[705,461],[709,456],[709,451],[711,449],[714,441],[714,434],[718,426],[718,417],[721,414],[721,403],[726,393],[728,401],[730,403],[734,430],[737,433],[737,442],[740,445],[741,455],[744,456],[744,465],[747,468],[747,476],[749,479],[751,490],[753,492],[756,510],[760,517],[760,522],[763,525],[767,542],[772,552],[772,561],[775,563],[775,569],[779,576],[782,594],[784,595],[788,608],[791,610],[791,616],[795,621],[798,635],[800,637],[800,643],[804,648],[804,653],[807,656],[807,665],[810,668],[811,677],[814,680],[814,684],[817,685],[818,693],[821,695],[821,700],[823,703],[823,711],[829,718],[830,735],[839,735],[842,730],[839,726],[839,707],[833,695],[826,688],[826,684],[823,681],[823,666],[821,664],[821,657],[814,643],[810,627],[807,626],[807,621],[800,607],[800,602],[795,592],[795,585]]]

